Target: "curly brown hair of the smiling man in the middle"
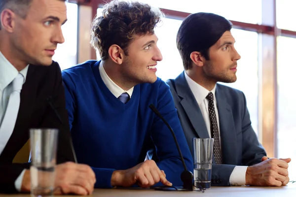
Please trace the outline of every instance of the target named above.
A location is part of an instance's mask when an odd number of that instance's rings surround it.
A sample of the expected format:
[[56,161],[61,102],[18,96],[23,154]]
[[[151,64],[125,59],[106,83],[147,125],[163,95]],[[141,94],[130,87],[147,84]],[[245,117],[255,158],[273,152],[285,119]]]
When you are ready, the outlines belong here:
[[104,5],[103,15],[92,23],[91,45],[108,59],[111,45],[117,44],[128,55],[127,48],[134,35],[154,33],[154,28],[164,14],[158,8],[140,2],[113,0]]

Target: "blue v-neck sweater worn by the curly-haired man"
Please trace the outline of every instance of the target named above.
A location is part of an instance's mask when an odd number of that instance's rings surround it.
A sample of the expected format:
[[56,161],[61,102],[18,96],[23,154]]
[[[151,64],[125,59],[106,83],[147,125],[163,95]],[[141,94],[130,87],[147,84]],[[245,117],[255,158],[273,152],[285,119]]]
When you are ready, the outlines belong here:
[[[87,61],[62,72],[66,106],[78,163],[96,174],[95,188],[110,188],[114,170],[144,162],[155,148],[157,166],[167,179],[182,186],[184,170],[174,138],[148,107],[153,103],[174,130],[187,168],[192,157],[185,140],[169,86],[161,79],[134,87],[131,99],[122,103],[110,92],[99,72],[100,61]],[[161,185],[158,183],[157,185]]]

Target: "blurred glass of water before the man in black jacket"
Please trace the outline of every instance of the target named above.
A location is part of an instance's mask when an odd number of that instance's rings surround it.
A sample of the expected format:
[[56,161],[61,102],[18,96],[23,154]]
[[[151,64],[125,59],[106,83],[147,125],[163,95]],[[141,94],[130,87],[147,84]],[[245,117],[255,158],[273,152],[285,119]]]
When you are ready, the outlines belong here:
[[31,197],[52,197],[58,130],[31,129]]

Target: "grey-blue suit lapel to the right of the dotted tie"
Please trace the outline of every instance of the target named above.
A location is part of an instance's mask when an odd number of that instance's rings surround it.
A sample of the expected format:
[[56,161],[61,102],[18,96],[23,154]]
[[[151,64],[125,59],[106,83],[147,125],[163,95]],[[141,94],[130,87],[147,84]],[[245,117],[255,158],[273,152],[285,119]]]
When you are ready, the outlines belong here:
[[215,95],[219,114],[223,164],[236,164],[236,157],[233,156],[236,155],[234,147],[236,147],[237,141],[232,110],[219,84],[217,84]]

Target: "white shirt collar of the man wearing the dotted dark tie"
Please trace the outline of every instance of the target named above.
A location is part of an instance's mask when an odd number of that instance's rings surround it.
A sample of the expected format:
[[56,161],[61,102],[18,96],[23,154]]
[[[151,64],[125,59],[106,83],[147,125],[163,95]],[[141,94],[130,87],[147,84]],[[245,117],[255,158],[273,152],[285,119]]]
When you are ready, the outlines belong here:
[[214,95],[214,101],[216,101],[216,96],[215,96],[215,92],[216,92],[216,86],[211,90],[208,91],[207,89],[205,89],[204,87],[202,87],[201,85],[199,85],[198,83],[196,83],[195,81],[193,81],[188,75],[187,73],[184,71],[185,74],[185,79],[189,85],[190,90],[193,93],[194,98],[196,99],[198,105],[200,105],[204,99],[206,99],[206,97],[208,96],[208,94],[210,92],[213,93]]

